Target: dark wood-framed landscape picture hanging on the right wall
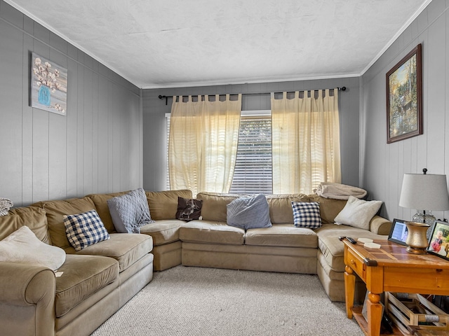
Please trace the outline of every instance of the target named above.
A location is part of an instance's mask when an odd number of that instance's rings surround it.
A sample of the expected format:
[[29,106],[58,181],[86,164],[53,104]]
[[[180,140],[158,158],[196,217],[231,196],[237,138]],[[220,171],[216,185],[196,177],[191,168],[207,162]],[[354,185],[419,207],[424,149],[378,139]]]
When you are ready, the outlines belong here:
[[418,44],[387,72],[387,144],[422,134],[422,50]]

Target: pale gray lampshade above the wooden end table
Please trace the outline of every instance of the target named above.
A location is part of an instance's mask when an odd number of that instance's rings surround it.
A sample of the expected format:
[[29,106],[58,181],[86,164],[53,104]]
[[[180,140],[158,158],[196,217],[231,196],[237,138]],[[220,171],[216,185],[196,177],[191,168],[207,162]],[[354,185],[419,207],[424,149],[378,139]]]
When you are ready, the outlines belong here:
[[430,211],[449,210],[445,175],[404,174],[399,206]]

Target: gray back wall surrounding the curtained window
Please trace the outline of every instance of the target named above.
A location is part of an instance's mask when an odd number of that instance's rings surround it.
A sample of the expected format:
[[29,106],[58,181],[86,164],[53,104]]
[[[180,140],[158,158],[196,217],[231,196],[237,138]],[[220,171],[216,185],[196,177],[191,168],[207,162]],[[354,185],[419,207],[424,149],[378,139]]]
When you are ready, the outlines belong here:
[[[359,141],[359,78],[333,78],[323,80],[300,80],[279,83],[257,83],[203,87],[178,87],[143,90],[144,127],[144,173],[146,190],[166,188],[166,118],[171,109],[172,99],[159,99],[159,94],[227,94],[251,92],[283,92],[297,90],[319,90],[346,86],[340,91],[340,140],[342,155],[342,182],[359,186],[358,141]],[[243,110],[270,109],[270,96],[243,95]]]

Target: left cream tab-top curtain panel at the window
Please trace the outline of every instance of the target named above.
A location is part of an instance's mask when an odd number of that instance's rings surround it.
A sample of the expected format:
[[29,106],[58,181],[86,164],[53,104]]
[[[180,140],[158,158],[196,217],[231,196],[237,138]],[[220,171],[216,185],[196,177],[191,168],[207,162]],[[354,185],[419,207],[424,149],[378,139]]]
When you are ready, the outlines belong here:
[[[227,193],[231,188],[239,140],[241,94],[224,101],[173,97],[168,141],[170,189]],[[234,98],[234,97],[233,97]]]

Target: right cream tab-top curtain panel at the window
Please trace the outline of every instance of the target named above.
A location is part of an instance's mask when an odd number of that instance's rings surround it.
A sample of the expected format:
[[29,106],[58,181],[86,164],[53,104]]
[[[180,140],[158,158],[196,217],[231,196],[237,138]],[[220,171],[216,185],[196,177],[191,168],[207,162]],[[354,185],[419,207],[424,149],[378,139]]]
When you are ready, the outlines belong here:
[[[330,95],[333,91],[333,95]],[[272,94],[273,193],[341,183],[338,89]]]

